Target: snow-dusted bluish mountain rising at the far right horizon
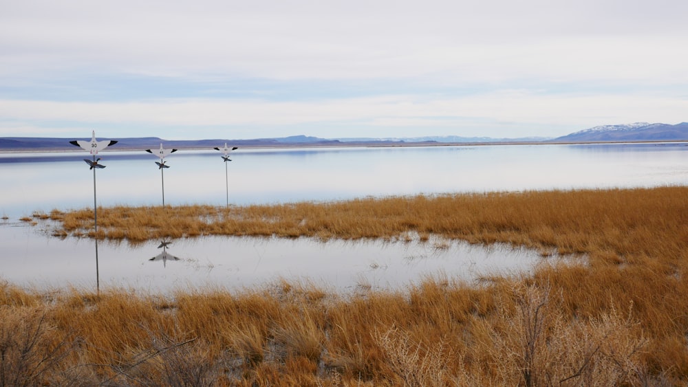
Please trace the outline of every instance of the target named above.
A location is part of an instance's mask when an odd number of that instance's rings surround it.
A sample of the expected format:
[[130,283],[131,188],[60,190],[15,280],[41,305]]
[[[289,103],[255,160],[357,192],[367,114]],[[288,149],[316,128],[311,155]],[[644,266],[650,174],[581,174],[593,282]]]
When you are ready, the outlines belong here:
[[680,124],[633,124],[602,125],[577,131],[563,137],[555,138],[556,142],[591,142],[591,141],[676,141],[688,140],[688,122]]

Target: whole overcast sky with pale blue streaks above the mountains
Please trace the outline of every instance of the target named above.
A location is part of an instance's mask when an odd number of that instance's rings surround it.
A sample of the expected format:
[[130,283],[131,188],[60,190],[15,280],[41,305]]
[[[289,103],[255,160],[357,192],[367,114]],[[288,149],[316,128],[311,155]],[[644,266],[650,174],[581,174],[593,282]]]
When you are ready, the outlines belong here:
[[0,0],[0,137],[688,121],[685,0]]

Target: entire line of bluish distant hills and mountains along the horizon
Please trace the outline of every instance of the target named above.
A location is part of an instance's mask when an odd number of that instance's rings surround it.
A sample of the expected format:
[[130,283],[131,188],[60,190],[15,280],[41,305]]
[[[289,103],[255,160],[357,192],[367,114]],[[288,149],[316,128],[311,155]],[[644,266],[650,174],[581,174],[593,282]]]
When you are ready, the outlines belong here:
[[[98,137],[100,139],[100,137]],[[0,137],[0,151],[70,151],[76,148],[70,140],[90,140],[89,138],[58,137]],[[287,146],[401,146],[413,144],[478,144],[478,143],[513,143],[513,142],[647,142],[647,141],[688,141],[688,122],[680,124],[634,124],[595,126],[557,138],[546,137],[460,137],[453,135],[424,137],[355,137],[325,139],[306,135],[290,137],[259,138],[254,140],[163,140],[159,137],[127,137],[117,139],[117,148],[125,150],[143,150],[158,148],[160,143],[171,148],[213,148],[225,143],[231,146],[253,148],[287,147]]]

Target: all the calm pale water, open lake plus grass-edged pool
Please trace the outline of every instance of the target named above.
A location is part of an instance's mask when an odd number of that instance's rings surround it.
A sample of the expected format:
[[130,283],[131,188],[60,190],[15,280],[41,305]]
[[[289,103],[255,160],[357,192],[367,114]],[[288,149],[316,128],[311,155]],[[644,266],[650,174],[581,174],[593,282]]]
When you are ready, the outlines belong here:
[[[112,149],[98,155],[107,166],[96,170],[98,206],[160,205],[163,178],[166,204],[216,206],[688,183],[686,143],[239,149],[227,164],[217,151],[178,151],[162,172],[149,153]],[[8,218],[0,223],[0,278],[36,287],[94,286],[94,241],[57,239],[45,230],[49,225],[18,221],[35,211],[92,208],[93,173],[85,158],[85,152],[0,153],[0,214]],[[179,261],[149,261],[162,252],[158,245],[101,241],[101,287],[251,287],[281,277],[336,289],[389,288],[428,274],[471,280],[524,272],[541,259],[535,252],[447,241],[213,237],[172,241],[166,251]]]

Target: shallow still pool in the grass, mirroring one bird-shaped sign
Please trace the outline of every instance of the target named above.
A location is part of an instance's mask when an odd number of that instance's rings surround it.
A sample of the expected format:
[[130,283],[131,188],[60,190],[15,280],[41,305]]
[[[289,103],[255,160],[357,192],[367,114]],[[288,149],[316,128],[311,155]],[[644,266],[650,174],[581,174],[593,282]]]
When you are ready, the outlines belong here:
[[[41,289],[69,285],[94,289],[92,240],[58,239],[51,234],[50,226],[43,222],[36,226],[0,223],[1,278]],[[283,278],[307,279],[334,291],[396,289],[440,273],[467,281],[527,273],[541,261],[541,256],[530,250],[441,239],[322,242],[210,236],[171,242],[129,245],[98,241],[100,287],[169,291],[209,285],[241,289]],[[153,262],[159,257],[164,269],[159,263],[151,264],[151,258],[142,259],[153,251],[158,253]],[[176,264],[166,267],[167,261]]]

